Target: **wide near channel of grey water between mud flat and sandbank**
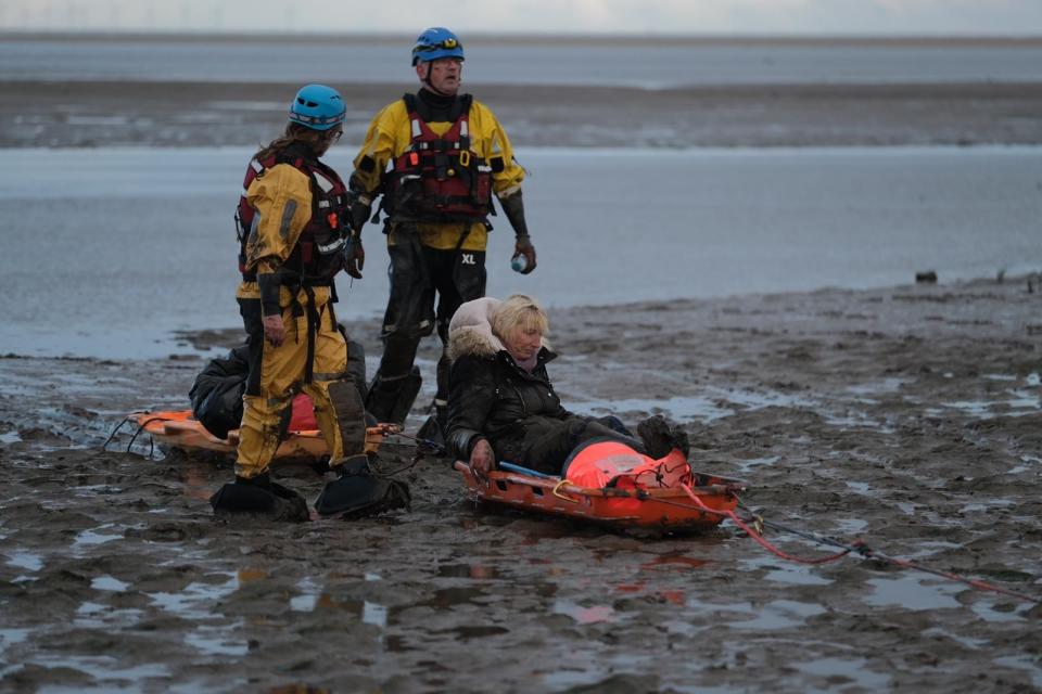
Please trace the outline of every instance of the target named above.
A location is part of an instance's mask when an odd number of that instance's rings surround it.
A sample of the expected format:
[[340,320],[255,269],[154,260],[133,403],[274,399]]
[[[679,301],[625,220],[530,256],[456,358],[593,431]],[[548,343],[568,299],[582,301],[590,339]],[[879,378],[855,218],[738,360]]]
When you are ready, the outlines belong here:
[[[350,170],[356,145],[328,160]],[[157,357],[240,325],[232,209],[247,149],[8,150],[0,354]],[[538,268],[491,235],[488,293],[550,306],[942,283],[1042,269],[1042,149],[524,150]],[[343,318],[379,316],[364,231]]]

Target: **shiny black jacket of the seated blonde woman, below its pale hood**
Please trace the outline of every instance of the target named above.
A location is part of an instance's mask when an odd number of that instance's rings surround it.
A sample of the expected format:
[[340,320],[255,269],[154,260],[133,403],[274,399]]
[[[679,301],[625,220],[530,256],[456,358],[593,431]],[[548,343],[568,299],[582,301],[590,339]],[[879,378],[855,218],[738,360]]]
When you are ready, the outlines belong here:
[[537,365],[528,373],[504,349],[493,356],[470,354],[456,359],[449,376],[448,448],[469,460],[485,438],[499,460],[524,464],[525,449],[541,434],[561,427],[572,413],[546,372],[557,355],[539,349]]

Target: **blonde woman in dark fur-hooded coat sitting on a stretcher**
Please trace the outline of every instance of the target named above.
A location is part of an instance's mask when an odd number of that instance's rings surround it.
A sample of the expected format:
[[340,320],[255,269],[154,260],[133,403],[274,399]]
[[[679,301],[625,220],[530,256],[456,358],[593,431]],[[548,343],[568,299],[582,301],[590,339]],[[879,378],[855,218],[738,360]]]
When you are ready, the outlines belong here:
[[544,339],[548,330],[543,308],[521,294],[459,307],[448,331],[450,454],[479,476],[497,461],[560,475],[569,455],[595,439],[618,440],[651,458],[674,448],[687,455],[687,435],[661,416],[641,422],[638,439],[613,415],[566,410],[546,370],[557,356]]

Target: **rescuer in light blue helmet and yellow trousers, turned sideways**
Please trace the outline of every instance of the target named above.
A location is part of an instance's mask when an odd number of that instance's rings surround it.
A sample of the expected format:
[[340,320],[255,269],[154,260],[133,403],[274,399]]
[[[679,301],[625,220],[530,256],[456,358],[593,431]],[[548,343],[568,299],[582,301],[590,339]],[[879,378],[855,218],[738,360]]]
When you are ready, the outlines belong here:
[[[242,283],[237,298],[250,373],[236,481],[211,500],[219,514],[309,517],[304,498],[271,481],[268,472],[283,417],[300,391],[314,403],[330,466],[356,474],[366,464],[361,396],[347,374],[346,338],[333,312],[333,278],[345,267],[360,277],[361,250],[347,224],[347,189],[319,160],[340,139],[344,113],[335,90],[304,87],[290,106],[284,134],[262,149],[246,170],[238,210]],[[320,514],[344,510],[338,507],[343,505],[338,483],[329,483],[316,502]]]

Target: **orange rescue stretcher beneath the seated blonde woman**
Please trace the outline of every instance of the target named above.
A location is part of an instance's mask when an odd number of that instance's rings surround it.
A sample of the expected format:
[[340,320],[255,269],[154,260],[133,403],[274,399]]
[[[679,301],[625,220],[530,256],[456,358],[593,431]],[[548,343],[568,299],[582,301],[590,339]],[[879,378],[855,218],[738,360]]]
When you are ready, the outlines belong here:
[[624,489],[583,487],[560,477],[509,470],[492,471],[487,480],[482,480],[462,461],[456,461],[455,467],[479,501],[625,528],[710,530],[720,525],[727,511],[734,511],[737,493],[746,489],[737,479],[703,473],[692,473],[694,484],[686,489]]

